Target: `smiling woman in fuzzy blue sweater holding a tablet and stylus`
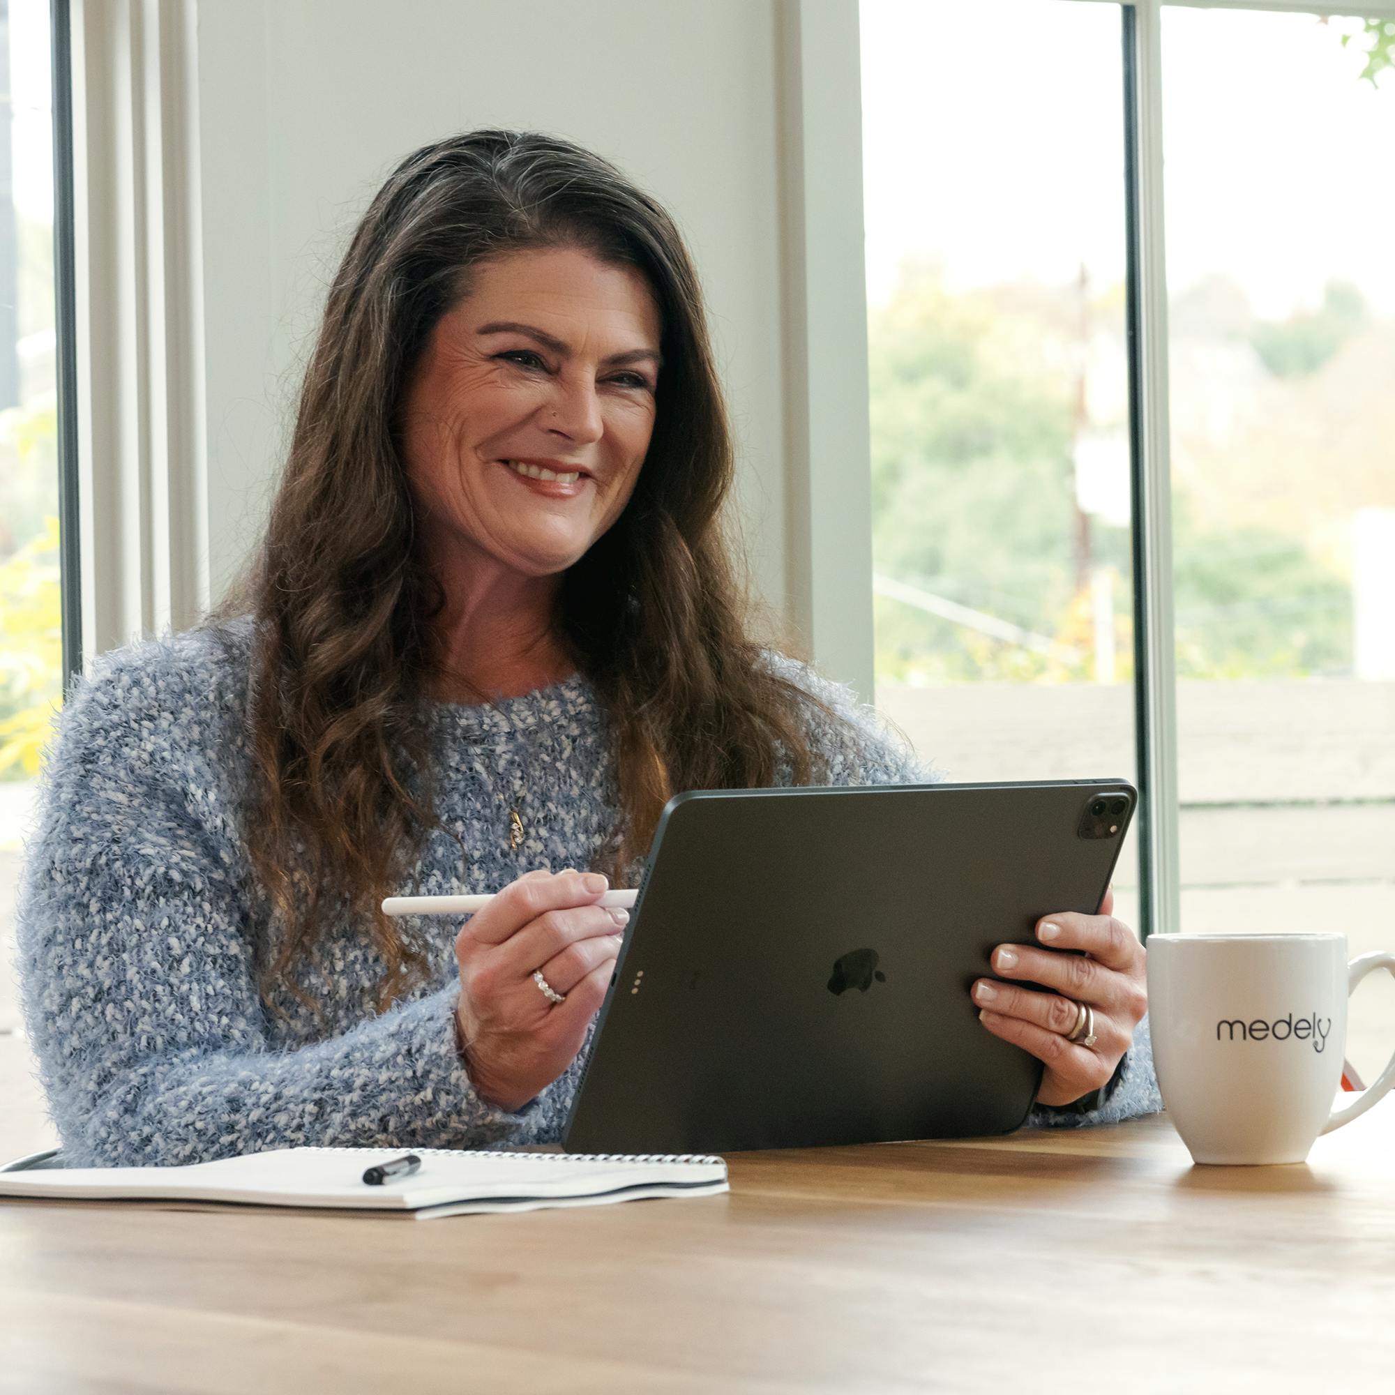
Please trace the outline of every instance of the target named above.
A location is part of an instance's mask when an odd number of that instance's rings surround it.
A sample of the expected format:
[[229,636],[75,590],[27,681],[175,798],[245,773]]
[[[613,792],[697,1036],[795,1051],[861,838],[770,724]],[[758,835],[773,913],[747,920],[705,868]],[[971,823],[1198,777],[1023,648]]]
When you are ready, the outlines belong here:
[[[241,594],[107,656],[63,714],[21,963],[73,1163],[554,1140],[626,919],[596,903],[672,792],[926,778],[748,636],[731,478],[663,209],[538,135],[402,162]],[[378,908],[499,887],[463,928]],[[1141,950],[1055,919],[1089,957],[999,957],[986,1030],[1046,1060],[1048,1109],[1110,1081],[1066,1117],[1155,1108]]]

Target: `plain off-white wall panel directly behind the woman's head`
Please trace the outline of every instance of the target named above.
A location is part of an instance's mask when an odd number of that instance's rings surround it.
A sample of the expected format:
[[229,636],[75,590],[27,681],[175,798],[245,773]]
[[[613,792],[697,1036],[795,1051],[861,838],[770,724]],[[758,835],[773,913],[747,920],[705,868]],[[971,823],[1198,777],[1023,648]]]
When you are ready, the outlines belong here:
[[684,229],[741,446],[755,575],[785,604],[776,3],[201,0],[215,596],[257,536],[324,286],[360,211],[416,146],[509,126],[612,159]]

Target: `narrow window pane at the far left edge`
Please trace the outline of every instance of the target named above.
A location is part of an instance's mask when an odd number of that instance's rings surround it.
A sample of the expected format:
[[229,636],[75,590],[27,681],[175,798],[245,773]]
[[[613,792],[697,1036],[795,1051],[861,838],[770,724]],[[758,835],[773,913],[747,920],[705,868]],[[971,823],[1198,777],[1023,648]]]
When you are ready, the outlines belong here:
[[10,971],[21,838],[63,692],[47,0],[0,0],[0,1155],[49,1127]]

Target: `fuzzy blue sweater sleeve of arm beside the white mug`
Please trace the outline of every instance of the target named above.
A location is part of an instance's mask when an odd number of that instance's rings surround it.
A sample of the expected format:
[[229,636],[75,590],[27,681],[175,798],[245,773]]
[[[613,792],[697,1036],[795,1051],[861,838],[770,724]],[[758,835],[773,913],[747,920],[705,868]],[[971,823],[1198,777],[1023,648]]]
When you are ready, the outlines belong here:
[[[824,678],[808,664],[774,656],[776,671],[815,693],[848,724],[838,730],[820,716],[810,718],[810,734],[829,755],[830,783],[930,784],[942,778],[933,766],[919,757],[875,707],[858,699],[850,685]],[[1124,1053],[1098,1108],[1080,1113],[1071,1109],[1035,1106],[1028,1124],[1036,1127],[1080,1129],[1091,1124],[1117,1123],[1136,1115],[1158,1113],[1162,1094],[1152,1066],[1152,1039],[1145,1017],[1134,1031],[1133,1046]]]

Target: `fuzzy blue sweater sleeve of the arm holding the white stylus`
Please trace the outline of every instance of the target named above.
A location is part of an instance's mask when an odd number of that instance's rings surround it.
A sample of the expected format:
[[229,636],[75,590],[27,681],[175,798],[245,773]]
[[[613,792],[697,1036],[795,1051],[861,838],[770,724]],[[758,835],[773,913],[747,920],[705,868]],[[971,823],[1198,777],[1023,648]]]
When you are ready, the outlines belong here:
[[20,972],[68,1163],[545,1133],[547,1092],[518,1115],[474,1094],[456,1052],[455,982],[342,1035],[273,1041],[208,755],[218,696],[206,682],[170,642],[123,651],[70,699],[47,760]]

